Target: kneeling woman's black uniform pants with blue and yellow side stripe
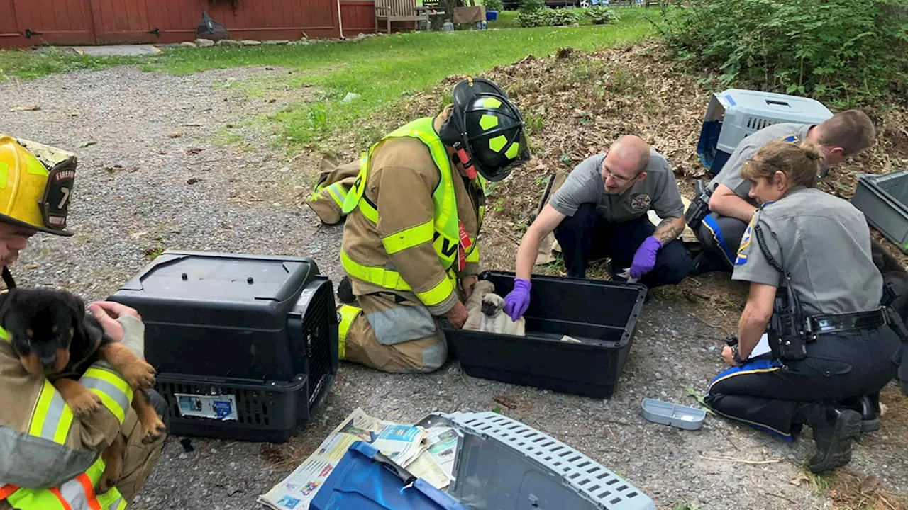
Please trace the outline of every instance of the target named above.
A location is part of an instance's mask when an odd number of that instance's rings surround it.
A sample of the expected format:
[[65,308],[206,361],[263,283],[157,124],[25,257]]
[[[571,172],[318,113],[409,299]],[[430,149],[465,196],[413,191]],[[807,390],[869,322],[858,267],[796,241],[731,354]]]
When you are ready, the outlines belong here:
[[895,377],[900,345],[888,326],[820,335],[801,361],[783,366],[759,359],[728,368],[710,383],[706,404],[790,440],[799,402],[833,404],[876,393]]

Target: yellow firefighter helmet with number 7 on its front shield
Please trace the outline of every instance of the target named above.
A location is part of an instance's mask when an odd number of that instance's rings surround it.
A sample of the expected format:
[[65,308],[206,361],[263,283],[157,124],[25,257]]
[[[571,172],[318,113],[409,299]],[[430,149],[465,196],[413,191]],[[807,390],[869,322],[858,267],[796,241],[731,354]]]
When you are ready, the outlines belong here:
[[73,235],[66,230],[66,215],[75,165],[70,152],[0,134],[0,221]]

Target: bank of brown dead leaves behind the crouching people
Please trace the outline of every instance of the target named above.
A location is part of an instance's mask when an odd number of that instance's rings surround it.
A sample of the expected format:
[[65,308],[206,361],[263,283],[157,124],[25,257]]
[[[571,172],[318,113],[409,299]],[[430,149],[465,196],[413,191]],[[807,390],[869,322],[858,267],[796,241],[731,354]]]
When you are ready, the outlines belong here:
[[[638,134],[664,154],[688,198],[694,181],[709,177],[696,156],[696,142],[710,94],[723,87],[709,74],[672,61],[661,44],[590,54],[563,48],[548,56],[528,55],[483,76],[501,85],[518,104],[530,128],[533,152],[527,165],[492,186],[483,226],[483,258],[489,269],[513,268],[514,248],[538,211],[548,176],[604,152],[618,136]],[[449,97],[454,84],[465,77],[451,75],[431,91],[401,100],[376,119],[376,127],[390,131],[410,119],[438,113],[439,98]],[[835,168],[822,184],[824,191],[846,200],[854,194],[857,174],[908,168],[908,108],[864,111],[878,130],[876,145]],[[354,136],[341,142],[350,157],[368,146]],[[881,239],[879,234],[874,237]],[[901,250],[884,244],[908,263]]]

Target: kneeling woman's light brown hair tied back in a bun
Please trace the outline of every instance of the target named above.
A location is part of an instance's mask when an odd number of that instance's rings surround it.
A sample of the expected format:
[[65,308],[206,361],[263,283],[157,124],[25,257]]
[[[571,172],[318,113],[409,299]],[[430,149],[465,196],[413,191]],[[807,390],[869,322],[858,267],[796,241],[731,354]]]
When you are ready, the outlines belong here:
[[741,177],[773,181],[775,172],[783,172],[795,186],[813,188],[822,162],[823,152],[814,142],[769,142],[745,162]]

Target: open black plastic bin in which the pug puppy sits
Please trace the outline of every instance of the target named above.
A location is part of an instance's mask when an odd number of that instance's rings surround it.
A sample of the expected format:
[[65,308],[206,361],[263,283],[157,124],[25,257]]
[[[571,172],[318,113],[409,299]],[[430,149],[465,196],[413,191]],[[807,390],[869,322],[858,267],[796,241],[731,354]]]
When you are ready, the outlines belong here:
[[[514,289],[514,273],[486,271],[495,292]],[[533,275],[527,336],[444,328],[460,367],[475,378],[611,397],[634,340],[646,286]],[[561,341],[565,335],[582,343]]]

